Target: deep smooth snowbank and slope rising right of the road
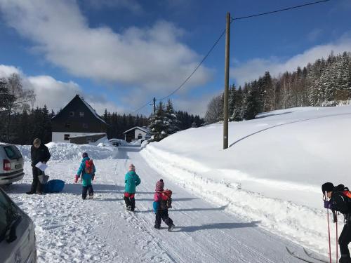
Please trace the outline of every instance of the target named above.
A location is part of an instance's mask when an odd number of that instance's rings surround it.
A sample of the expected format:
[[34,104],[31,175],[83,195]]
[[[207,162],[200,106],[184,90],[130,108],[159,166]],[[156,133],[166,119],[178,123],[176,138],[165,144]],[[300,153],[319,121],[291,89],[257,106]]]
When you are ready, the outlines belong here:
[[279,110],[230,123],[226,150],[216,123],[148,144],[142,155],[164,177],[326,254],[321,185],[351,186],[350,119],[350,106]]

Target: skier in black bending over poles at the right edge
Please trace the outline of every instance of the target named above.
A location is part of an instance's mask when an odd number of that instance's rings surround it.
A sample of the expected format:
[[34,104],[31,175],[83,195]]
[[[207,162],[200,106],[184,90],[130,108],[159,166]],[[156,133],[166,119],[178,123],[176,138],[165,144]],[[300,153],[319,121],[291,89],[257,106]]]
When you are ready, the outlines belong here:
[[[334,187],[331,182],[326,182],[322,185],[324,208],[338,211],[345,217],[345,225],[338,241],[341,254],[339,262],[351,263],[350,251],[347,247],[351,242],[351,200],[344,194],[345,189],[347,188],[343,184]],[[330,198],[329,201],[327,198]]]

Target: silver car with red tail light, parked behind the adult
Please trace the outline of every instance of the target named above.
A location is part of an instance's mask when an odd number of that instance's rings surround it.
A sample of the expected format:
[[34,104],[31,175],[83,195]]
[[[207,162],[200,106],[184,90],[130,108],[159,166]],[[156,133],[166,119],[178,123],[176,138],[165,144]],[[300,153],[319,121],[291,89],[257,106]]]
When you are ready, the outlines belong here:
[[12,184],[22,180],[23,157],[13,144],[0,143],[0,184]]

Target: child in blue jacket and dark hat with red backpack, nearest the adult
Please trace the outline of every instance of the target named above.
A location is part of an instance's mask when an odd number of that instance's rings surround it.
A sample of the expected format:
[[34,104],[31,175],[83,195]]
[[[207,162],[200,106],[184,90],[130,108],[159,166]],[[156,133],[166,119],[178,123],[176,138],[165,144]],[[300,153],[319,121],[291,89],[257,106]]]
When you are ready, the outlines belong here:
[[86,152],[82,154],[83,159],[81,160],[81,165],[77,171],[77,175],[74,177],[74,182],[78,182],[79,177],[81,176],[81,198],[86,199],[86,194],[88,192],[89,198],[93,198],[94,190],[91,181],[95,177],[95,165],[93,160],[91,160]]

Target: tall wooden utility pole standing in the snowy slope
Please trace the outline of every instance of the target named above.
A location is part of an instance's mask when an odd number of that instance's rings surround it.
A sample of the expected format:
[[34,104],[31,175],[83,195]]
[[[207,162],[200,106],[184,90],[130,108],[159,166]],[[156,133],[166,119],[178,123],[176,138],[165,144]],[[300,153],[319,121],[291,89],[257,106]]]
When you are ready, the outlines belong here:
[[223,107],[223,149],[228,147],[228,93],[229,93],[229,51],[230,51],[230,13],[227,13],[225,27],[225,73]]

